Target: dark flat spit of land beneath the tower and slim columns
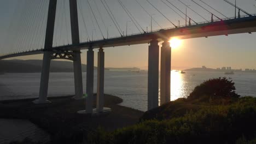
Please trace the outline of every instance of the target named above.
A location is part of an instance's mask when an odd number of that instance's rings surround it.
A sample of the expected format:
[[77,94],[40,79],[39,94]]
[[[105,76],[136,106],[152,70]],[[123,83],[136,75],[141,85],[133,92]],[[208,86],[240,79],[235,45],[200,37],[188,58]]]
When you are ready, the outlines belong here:
[[[72,137],[78,133],[89,133],[99,127],[107,131],[127,127],[138,123],[144,113],[130,107],[120,106],[118,104],[123,102],[121,98],[105,94],[104,106],[112,109],[109,115],[95,117],[79,115],[77,111],[84,109],[85,99],[74,100],[72,97],[72,95],[51,97],[49,98],[52,101],[51,104],[40,105],[33,104],[31,102],[33,99],[3,100],[0,101],[0,118],[27,119],[46,131],[52,142],[56,140],[56,137],[59,139],[59,136],[63,141],[73,140]],[[94,102],[95,100],[96,97],[94,97]]]

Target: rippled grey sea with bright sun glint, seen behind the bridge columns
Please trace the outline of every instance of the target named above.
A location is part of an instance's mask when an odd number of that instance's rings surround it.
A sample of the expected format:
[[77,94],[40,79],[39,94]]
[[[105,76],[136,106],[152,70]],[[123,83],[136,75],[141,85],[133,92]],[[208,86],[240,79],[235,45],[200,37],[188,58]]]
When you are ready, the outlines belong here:
[[[256,73],[235,73],[224,75],[222,72],[188,71],[185,74],[171,71],[171,100],[187,97],[201,82],[217,77],[231,77],[236,92],[242,96],[256,96]],[[49,97],[74,94],[73,73],[51,73]],[[104,93],[116,95],[124,101],[120,105],[147,111],[147,71],[105,71]],[[0,75],[0,100],[37,98],[40,73],[14,73]],[[97,71],[94,73],[94,92],[96,93]],[[86,73],[83,73],[85,92]],[[160,89],[159,89],[160,91]]]

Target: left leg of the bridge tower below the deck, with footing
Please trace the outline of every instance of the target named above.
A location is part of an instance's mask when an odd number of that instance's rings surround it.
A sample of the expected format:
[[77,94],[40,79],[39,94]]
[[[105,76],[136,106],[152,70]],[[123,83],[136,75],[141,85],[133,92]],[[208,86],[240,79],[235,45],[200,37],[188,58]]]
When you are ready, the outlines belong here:
[[39,98],[33,101],[34,104],[50,103],[50,101],[47,100],[50,64],[51,64],[51,52],[45,51],[43,56]]

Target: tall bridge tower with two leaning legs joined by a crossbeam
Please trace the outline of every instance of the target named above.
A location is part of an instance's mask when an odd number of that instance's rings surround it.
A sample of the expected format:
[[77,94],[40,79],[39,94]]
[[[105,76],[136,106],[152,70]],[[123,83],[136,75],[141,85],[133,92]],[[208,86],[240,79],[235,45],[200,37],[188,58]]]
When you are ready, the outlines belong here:
[[[83,79],[82,79],[82,65],[81,65],[80,50],[76,50],[76,51],[54,51],[53,50],[56,6],[57,6],[57,0],[49,1],[39,98],[38,100],[33,101],[33,103],[36,103],[36,104],[50,103],[50,101],[47,99],[49,74],[50,74],[50,62],[51,62],[51,59],[56,59],[56,58],[68,59],[73,61],[75,99],[83,98],[83,82],[82,82]],[[72,44],[75,45],[80,43],[76,0],[69,0],[69,9],[70,9],[70,17],[71,17]]]

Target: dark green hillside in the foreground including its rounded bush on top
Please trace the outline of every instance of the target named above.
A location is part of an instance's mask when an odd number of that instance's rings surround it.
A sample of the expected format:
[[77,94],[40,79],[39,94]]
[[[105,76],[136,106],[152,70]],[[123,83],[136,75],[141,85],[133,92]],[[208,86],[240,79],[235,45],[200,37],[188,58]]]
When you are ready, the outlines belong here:
[[88,134],[86,143],[254,143],[256,98],[238,97],[231,80],[211,79],[136,125]]

